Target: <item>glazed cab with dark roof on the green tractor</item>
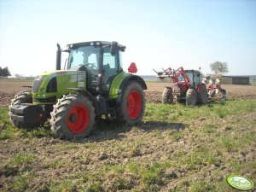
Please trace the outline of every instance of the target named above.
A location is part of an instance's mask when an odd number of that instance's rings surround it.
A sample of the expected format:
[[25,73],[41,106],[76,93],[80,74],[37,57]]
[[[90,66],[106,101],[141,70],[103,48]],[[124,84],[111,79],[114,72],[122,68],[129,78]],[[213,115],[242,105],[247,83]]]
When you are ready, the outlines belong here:
[[79,44],[68,44],[68,70],[86,72],[86,88],[91,92],[109,90],[111,80],[123,72],[121,55],[125,46],[116,42],[93,41]]

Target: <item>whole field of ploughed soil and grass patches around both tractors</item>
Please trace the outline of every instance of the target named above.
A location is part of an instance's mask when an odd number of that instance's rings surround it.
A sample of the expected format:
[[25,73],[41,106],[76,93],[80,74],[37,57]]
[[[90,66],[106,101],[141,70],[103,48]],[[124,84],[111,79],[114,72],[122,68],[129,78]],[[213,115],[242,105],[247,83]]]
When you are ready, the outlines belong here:
[[225,85],[227,102],[160,104],[167,83],[147,83],[140,125],[97,122],[90,137],[55,138],[49,125],[20,130],[8,105],[31,82],[0,81],[0,191],[238,191],[256,182],[256,86]]

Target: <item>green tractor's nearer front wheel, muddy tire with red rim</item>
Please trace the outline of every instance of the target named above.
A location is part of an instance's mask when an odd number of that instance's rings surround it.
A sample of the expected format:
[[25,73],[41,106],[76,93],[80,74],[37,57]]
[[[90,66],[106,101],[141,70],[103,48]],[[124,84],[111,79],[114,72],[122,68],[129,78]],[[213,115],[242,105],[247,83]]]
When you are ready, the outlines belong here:
[[69,94],[54,105],[50,113],[51,130],[63,139],[78,139],[89,136],[95,124],[95,108],[88,97]]

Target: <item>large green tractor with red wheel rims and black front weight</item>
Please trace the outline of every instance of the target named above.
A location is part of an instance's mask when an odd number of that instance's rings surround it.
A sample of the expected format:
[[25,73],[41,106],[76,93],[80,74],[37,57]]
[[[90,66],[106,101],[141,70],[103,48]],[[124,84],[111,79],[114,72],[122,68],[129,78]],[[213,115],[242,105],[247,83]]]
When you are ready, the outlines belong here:
[[[96,119],[116,119],[135,125],[143,118],[147,90],[131,63],[125,73],[117,42],[92,41],[57,44],[56,70],[36,77],[32,90],[21,91],[9,106],[10,122],[19,128],[35,128],[49,119],[57,137],[87,137]],[[61,52],[68,53],[67,70],[61,70]]]

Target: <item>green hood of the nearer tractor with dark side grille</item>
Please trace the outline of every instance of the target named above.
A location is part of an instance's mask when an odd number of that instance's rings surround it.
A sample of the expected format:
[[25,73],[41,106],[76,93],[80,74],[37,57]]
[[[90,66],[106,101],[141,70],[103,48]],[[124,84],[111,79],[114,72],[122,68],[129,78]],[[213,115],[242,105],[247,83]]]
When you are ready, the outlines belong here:
[[86,90],[86,74],[77,70],[56,70],[38,75],[32,84],[33,102],[55,102],[61,96],[73,92],[68,88]]

